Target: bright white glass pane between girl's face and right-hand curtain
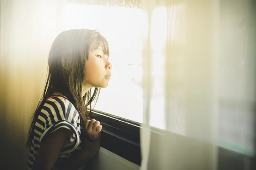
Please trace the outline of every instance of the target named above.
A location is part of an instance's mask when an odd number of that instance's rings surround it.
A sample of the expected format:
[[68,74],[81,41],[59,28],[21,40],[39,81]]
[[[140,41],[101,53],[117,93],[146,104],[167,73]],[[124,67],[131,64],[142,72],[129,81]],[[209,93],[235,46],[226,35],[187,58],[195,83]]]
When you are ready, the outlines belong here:
[[101,89],[96,110],[142,122],[142,41],[146,14],[139,8],[67,3],[66,29],[97,29],[110,47],[112,77]]

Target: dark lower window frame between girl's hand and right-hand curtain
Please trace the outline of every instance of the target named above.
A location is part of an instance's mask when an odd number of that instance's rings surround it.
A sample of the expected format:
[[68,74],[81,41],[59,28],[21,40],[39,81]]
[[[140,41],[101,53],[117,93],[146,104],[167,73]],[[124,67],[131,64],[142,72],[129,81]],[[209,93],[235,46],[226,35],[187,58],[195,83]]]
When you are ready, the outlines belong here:
[[101,147],[140,166],[140,124],[102,111],[91,113],[103,127]]

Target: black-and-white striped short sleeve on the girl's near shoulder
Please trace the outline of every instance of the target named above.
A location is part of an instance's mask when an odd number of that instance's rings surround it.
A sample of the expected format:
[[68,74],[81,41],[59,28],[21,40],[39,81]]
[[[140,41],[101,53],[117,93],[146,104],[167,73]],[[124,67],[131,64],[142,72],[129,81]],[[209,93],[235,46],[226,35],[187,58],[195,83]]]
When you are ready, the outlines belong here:
[[39,142],[41,143],[45,136],[59,128],[66,128],[71,130],[72,134],[65,142],[61,154],[70,153],[76,150],[80,143],[80,136],[78,131],[79,114],[74,105],[63,97],[55,97],[46,101],[41,112],[47,115],[47,121]]

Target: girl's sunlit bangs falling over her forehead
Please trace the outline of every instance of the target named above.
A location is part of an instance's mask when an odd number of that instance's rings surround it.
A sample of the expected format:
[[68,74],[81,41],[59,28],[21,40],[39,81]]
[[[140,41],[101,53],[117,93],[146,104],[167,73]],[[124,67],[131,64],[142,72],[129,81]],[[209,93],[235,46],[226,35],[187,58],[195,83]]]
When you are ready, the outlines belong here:
[[99,48],[99,46],[102,47],[102,51],[105,55],[109,56],[109,47],[107,40],[101,35],[98,34],[91,43],[91,50],[96,50]]

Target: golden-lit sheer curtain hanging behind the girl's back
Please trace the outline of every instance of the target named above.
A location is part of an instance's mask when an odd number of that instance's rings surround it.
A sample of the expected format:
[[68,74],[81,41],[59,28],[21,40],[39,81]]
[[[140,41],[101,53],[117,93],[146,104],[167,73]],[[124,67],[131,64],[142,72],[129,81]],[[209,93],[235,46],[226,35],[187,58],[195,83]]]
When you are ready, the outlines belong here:
[[62,0],[0,0],[1,169],[25,169],[30,117],[44,89]]

